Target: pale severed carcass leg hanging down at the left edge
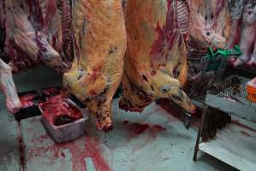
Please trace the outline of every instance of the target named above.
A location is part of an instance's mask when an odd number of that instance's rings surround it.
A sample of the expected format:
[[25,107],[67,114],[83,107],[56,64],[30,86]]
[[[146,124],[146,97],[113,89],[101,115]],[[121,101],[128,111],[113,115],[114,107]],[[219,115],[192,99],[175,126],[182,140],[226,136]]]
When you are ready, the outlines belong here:
[[12,69],[8,64],[3,62],[0,59],[0,89],[3,91],[3,94],[6,99],[7,109],[11,113],[17,112],[21,109],[21,101],[17,95],[15,88],[15,83],[12,78]]

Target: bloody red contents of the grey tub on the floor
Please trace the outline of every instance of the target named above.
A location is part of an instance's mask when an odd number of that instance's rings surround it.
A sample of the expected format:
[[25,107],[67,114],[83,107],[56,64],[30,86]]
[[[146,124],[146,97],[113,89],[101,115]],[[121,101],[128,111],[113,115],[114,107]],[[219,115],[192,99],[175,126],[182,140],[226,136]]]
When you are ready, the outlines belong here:
[[67,99],[62,98],[60,94],[49,97],[46,102],[39,103],[39,107],[43,110],[42,115],[44,115],[45,120],[51,125],[60,125],[56,124],[60,117],[68,117],[72,121],[80,120],[83,117],[80,109],[68,103]]

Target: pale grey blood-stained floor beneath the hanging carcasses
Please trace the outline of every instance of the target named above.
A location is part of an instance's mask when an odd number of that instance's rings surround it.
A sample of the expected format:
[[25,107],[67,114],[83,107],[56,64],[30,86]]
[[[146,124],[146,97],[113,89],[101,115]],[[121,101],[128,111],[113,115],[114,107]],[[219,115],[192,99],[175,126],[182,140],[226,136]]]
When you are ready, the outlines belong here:
[[[49,68],[38,67],[15,75],[19,91],[60,85],[61,78]],[[20,167],[17,122],[5,108],[0,95],[0,170]],[[95,130],[93,118],[86,124],[86,134],[66,144],[55,144],[45,132],[40,117],[21,121],[25,142],[27,171],[176,171],[235,170],[199,151],[193,162],[193,146],[198,121],[187,130],[183,123],[155,103],[142,114],[125,112],[113,103],[114,130]]]

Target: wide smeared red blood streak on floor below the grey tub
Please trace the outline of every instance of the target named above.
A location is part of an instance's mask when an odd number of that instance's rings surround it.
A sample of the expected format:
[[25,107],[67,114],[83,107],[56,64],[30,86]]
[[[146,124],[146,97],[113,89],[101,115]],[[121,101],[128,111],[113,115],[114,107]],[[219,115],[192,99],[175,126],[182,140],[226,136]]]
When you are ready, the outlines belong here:
[[[35,137],[35,139],[40,139]],[[57,158],[65,157],[63,150],[68,150],[71,154],[72,171],[87,170],[86,157],[91,157],[94,167],[97,171],[110,171],[110,166],[101,155],[100,145],[98,139],[95,137],[86,137],[82,140],[84,145],[76,144],[74,141],[62,144],[52,144],[50,146],[39,146],[41,143],[35,144],[31,150],[28,151],[28,159],[34,156],[45,156],[45,153],[52,151],[54,156],[48,156],[53,164]],[[36,143],[36,142],[34,142]]]

